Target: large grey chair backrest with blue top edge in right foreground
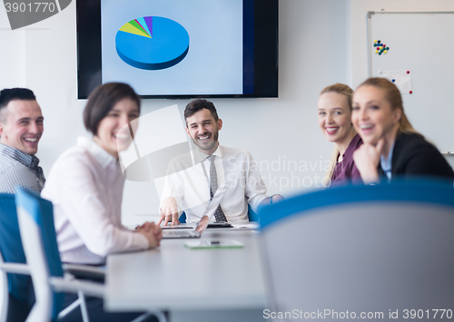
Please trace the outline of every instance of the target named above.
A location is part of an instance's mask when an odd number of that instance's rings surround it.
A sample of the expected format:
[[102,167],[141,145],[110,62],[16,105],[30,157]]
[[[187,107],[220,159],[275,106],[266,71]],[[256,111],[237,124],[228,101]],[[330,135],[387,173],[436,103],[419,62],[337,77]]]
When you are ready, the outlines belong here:
[[323,190],[265,207],[260,217],[275,312],[383,312],[389,320],[396,309],[400,318],[404,309],[429,309],[432,318],[430,307],[454,303],[452,184]]

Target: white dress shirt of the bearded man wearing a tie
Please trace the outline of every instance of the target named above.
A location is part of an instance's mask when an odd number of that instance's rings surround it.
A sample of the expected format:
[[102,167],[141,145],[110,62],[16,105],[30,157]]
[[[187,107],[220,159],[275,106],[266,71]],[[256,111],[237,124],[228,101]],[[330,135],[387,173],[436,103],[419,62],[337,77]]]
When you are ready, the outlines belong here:
[[[218,190],[223,190],[221,208],[229,222],[248,221],[248,203],[257,211],[267,198],[257,164],[249,151],[221,145],[212,153],[218,177]],[[187,222],[198,222],[210,203],[209,155],[195,150],[173,158],[169,163],[162,201],[172,196]],[[214,218],[211,218],[213,221]]]

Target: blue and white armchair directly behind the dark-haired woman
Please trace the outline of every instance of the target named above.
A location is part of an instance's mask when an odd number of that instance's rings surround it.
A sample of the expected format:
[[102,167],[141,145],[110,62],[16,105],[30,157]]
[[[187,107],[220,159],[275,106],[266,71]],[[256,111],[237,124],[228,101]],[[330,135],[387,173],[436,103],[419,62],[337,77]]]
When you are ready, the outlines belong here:
[[[36,303],[27,322],[56,321],[79,306],[84,322],[90,321],[85,296],[104,298],[104,284],[76,279],[64,273],[57,247],[52,202],[17,188],[15,203],[25,256],[35,286]],[[75,293],[79,298],[63,309],[63,292]],[[133,322],[151,316],[166,320],[163,312],[148,312]]]

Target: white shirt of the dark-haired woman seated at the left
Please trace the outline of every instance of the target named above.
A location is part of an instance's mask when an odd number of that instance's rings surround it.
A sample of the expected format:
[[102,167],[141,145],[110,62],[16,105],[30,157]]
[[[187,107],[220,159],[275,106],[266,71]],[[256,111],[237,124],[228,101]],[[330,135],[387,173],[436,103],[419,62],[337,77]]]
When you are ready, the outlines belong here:
[[55,161],[41,196],[54,204],[64,262],[103,264],[107,254],[149,248],[122,225],[123,185],[119,162],[90,139],[79,138]]

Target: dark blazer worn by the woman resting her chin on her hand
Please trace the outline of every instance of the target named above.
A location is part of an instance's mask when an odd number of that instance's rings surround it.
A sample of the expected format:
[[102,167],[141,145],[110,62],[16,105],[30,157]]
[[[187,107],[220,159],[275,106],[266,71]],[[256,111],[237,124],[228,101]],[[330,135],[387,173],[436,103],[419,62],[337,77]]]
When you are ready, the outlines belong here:
[[454,179],[454,171],[448,161],[419,134],[398,134],[392,151],[391,167],[391,180],[410,176]]

